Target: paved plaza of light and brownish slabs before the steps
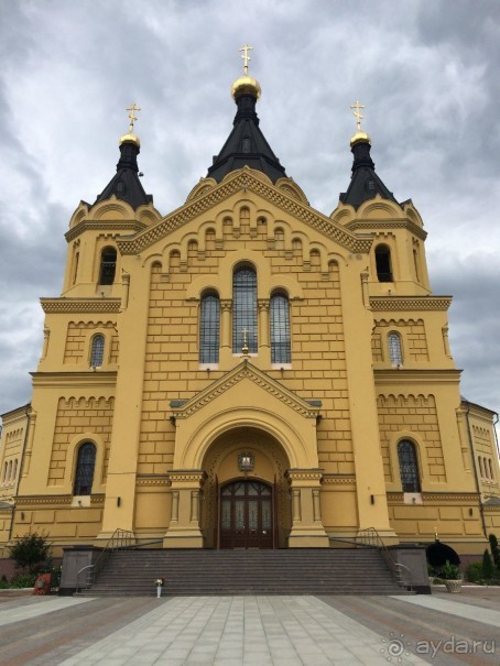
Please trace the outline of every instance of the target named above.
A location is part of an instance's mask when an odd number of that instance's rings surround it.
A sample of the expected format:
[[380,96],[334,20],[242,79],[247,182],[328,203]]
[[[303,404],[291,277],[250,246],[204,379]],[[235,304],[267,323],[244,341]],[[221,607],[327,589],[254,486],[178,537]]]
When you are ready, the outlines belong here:
[[0,594],[0,664],[500,664],[500,591],[417,597]]

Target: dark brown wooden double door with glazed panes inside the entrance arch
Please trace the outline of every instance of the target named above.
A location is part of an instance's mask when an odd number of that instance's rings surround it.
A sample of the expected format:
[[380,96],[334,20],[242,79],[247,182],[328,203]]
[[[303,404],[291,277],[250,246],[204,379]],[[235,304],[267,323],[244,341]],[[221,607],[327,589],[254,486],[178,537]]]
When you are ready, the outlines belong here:
[[273,548],[273,488],[242,479],[220,489],[220,548]]

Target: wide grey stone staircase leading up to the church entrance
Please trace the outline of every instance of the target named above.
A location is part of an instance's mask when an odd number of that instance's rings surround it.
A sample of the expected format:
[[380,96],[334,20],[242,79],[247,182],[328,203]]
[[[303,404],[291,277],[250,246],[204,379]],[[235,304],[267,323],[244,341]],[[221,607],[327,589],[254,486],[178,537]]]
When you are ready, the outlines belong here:
[[90,597],[404,594],[377,549],[113,552]]

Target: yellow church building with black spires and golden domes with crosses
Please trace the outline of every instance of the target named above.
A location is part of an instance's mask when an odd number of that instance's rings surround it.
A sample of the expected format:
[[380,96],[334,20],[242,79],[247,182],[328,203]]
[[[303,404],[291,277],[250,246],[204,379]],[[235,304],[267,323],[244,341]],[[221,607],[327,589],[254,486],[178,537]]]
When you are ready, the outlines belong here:
[[69,220],[32,401],[3,415],[0,557],[30,531],[56,555],[117,528],[215,549],[374,528],[476,558],[500,537],[496,414],[460,397],[419,211],[376,172],[359,102],[345,192],[312,208],[243,57],[232,129],[183,206],[145,193],[132,105],[116,174]]

